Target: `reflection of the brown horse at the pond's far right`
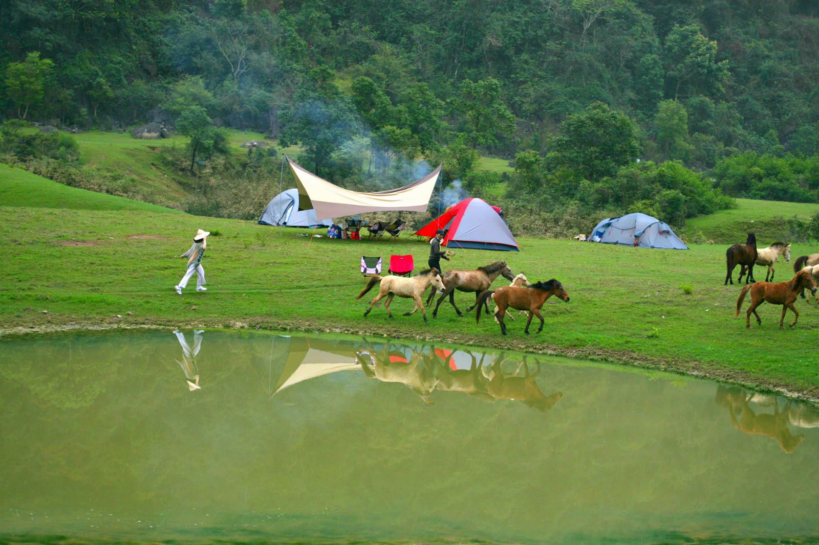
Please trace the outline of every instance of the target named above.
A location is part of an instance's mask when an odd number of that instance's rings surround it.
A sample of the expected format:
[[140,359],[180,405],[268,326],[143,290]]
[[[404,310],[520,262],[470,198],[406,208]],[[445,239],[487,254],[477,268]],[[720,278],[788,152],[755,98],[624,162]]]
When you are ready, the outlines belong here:
[[790,435],[788,412],[780,412],[776,398],[773,400],[773,414],[756,414],[750,408],[748,394],[740,388],[717,386],[717,405],[728,408],[731,424],[737,430],[749,435],[767,435],[774,439],[786,453],[793,453],[805,436]]

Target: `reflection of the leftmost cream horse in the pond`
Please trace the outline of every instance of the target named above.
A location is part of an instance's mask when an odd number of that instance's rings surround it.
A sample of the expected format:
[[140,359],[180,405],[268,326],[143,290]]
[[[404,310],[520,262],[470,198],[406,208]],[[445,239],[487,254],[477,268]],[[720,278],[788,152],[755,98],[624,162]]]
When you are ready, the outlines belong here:
[[369,351],[360,351],[356,358],[364,375],[382,382],[400,382],[419,394],[424,403],[432,404],[429,394],[432,394],[438,383],[434,369],[430,366],[433,356],[425,356],[423,351],[412,352],[409,362],[392,361],[389,345],[384,346],[382,353],[370,346]]

